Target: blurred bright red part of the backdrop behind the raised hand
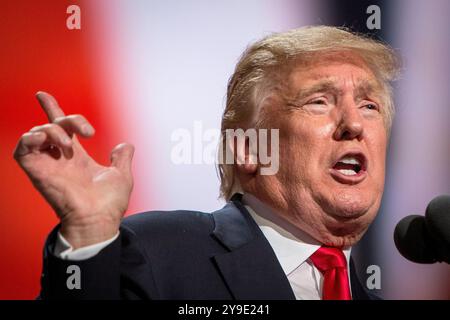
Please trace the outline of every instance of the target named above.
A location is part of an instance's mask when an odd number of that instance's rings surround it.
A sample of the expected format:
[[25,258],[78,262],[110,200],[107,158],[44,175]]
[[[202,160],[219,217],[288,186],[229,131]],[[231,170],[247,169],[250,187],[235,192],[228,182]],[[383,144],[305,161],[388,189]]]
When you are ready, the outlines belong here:
[[[87,49],[86,33],[67,29],[66,8],[71,4],[74,2],[0,4],[0,299],[37,296],[42,247],[57,223],[51,208],[12,158],[20,136],[46,122],[35,93],[57,92],[67,114],[82,113],[102,132],[84,143],[95,159],[107,163],[109,151],[120,142],[118,121],[108,109],[98,108],[105,99],[98,93],[101,81],[92,66],[103,57]],[[86,27],[95,23],[88,15],[82,19]],[[109,106],[113,104],[111,101]]]

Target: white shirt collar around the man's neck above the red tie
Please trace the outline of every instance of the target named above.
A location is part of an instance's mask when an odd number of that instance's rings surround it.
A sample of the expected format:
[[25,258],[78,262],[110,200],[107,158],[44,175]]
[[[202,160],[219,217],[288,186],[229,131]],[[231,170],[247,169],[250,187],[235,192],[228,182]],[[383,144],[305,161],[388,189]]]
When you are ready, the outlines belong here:
[[[321,243],[282,219],[272,208],[255,196],[245,193],[242,203],[269,241],[281,267],[289,275],[321,247]],[[350,261],[351,248],[343,250]]]

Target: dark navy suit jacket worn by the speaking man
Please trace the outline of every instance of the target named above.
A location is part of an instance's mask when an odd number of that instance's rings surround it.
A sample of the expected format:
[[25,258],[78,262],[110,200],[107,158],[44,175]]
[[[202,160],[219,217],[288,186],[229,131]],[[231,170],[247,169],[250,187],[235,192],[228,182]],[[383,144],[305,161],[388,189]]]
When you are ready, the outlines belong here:
[[[64,261],[44,248],[42,299],[295,299],[267,239],[235,195],[222,209],[147,212],[123,220],[120,236],[93,258]],[[67,288],[78,265],[81,289]],[[353,261],[354,299],[371,299]]]

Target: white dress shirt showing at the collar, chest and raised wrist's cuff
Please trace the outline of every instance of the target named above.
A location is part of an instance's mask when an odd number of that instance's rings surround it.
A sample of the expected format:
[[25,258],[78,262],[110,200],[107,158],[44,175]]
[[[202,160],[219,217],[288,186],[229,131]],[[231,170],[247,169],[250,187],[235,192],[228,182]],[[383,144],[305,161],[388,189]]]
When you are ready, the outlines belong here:
[[[269,206],[253,195],[244,194],[242,202],[269,241],[288,278],[295,298],[297,300],[322,299],[323,276],[309,259],[321,244],[280,218]],[[118,236],[119,233],[109,240],[73,250],[70,243],[58,232],[54,254],[64,260],[86,260],[97,255]],[[343,250],[348,271],[350,270],[350,251],[351,248]],[[350,276],[349,272],[348,274]]]

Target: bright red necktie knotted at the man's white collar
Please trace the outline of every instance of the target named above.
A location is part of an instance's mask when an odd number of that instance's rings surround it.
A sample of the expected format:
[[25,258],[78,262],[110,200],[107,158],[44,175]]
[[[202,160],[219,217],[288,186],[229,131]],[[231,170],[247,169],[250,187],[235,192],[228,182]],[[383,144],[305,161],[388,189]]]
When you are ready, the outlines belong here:
[[351,300],[347,260],[342,250],[320,247],[309,257],[323,274],[323,300]]

